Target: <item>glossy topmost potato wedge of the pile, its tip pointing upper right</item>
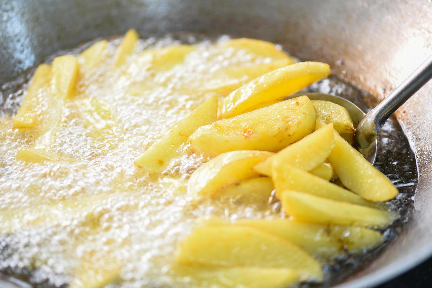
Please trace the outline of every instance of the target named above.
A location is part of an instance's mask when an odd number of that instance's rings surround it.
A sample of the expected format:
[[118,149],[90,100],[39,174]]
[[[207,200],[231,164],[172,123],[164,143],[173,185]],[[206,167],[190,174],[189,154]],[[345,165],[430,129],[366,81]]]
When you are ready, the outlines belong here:
[[330,73],[330,66],[319,62],[295,63],[266,73],[229,94],[223,102],[222,117],[244,113],[258,103],[283,99]]

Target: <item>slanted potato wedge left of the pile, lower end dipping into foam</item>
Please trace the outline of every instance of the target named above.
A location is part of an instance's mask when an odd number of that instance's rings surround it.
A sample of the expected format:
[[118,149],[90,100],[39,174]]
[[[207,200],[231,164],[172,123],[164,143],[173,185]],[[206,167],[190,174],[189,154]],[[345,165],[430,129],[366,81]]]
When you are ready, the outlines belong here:
[[197,128],[210,124],[217,117],[217,98],[210,97],[198,106],[191,114],[181,120],[167,135],[159,139],[143,154],[135,158],[133,163],[147,172],[156,173],[162,171],[177,150],[187,141],[187,138]]

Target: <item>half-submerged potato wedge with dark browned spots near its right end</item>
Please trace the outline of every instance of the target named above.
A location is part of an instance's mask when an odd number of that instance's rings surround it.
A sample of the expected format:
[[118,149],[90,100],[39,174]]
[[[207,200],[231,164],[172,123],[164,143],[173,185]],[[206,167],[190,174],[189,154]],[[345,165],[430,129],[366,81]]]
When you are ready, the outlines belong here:
[[319,225],[293,219],[238,219],[234,222],[210,217],[197,219],[198,226],[248,226],[286,239],[314,257],[333,259],[345,251],[359,253],[384,241],[380,232],[363,227]]

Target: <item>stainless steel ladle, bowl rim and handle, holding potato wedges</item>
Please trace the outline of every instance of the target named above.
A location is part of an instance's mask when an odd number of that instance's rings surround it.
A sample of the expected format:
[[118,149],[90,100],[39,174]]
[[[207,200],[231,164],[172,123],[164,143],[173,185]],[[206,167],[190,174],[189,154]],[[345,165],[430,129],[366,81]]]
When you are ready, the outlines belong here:
[[354,127],[357,127],[354,137],[354,146],[373,164],[377,154],[377,135],[385,121],[431,78],[432,55],[408,76],[408,78],[388,97],[367,114],[363,113],[363,111],[351,101],[330,94],[297,93],[289,98],[307,95],[311,100],[327,100],[345,107],[353,119]]

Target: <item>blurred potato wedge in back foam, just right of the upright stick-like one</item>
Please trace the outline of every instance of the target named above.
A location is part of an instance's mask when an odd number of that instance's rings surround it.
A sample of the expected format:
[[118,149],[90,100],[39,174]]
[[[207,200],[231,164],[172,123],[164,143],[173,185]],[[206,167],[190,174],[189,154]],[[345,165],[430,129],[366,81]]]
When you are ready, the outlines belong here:
[[167,71],[182,63],[187,54],[196,50],[195,45],[168,46],[154,53],[152,66],[158,71]]

